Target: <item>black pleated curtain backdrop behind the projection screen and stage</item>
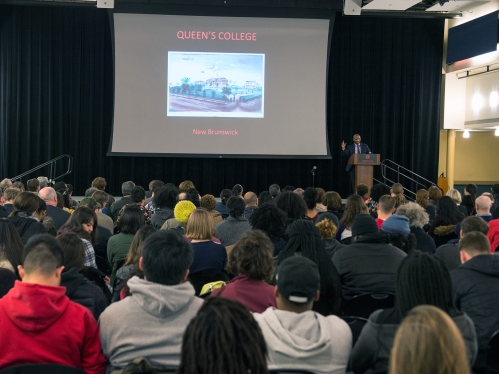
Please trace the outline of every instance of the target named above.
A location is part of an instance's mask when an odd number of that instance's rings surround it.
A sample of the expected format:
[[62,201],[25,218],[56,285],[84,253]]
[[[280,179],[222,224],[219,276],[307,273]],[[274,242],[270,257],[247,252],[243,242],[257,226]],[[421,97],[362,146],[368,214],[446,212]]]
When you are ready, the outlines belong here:
[[344,194],[340,144],[360,133],[382,158],[436,180],[443,25],[337,15],[328,84],[332,160],[108,157],[113,69],[107,12],[0,5],[0,178],[70,154],[74,171],[64,181],[76,195],[96,176],[105,177],[115,195],[125,180],[147,189],[152,179],[191,179],[201,194],[218,195],[236,183],[255,192],[272,183],[305,188],[315,165],[315,185]]

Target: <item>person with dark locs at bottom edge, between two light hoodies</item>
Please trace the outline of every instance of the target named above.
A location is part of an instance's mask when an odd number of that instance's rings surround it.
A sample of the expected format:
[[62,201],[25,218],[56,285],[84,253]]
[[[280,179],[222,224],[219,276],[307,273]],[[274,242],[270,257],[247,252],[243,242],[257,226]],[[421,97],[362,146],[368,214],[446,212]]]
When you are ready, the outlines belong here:
[[267,346],[241,303],[208,298],[185,330],[177,374],[267,374]]

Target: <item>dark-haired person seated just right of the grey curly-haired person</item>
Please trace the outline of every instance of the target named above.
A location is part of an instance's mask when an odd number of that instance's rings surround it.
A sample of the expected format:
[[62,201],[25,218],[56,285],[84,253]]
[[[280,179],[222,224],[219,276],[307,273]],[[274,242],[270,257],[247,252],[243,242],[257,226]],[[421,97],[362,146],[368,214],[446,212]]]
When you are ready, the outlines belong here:
[[437,214],[428,230],[428,234],[435,240],[435,245],[438,247],[449,240],[457,239],[454,229],[463,219],[464,214],[457,210],[456,203],[449,196],[441,197],[438,200]]

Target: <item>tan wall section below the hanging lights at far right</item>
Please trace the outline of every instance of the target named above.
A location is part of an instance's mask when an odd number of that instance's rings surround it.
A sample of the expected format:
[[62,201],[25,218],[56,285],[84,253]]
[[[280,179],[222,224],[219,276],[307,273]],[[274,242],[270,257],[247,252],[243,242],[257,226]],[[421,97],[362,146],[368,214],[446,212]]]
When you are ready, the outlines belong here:
[[[447,167],[447,131],[440,131],[438,173]],[[471,131],[469,139],[456,133],[455,183],[494,184],[499,181],[499,136]],[[447,171],[445,172],[447,176]]]

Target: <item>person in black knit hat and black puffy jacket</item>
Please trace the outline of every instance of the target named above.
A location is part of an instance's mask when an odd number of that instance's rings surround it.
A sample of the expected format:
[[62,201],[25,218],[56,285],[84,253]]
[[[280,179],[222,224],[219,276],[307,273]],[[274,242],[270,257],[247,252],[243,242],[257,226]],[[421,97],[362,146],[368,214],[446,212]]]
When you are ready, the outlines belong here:
[[376,292],[394,292],[397,270],[407,256],[390,245],[390,235],[379,231],[369,214],[359,214],[352,225],[353,243],[333,255],[343,298]]

